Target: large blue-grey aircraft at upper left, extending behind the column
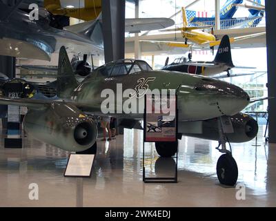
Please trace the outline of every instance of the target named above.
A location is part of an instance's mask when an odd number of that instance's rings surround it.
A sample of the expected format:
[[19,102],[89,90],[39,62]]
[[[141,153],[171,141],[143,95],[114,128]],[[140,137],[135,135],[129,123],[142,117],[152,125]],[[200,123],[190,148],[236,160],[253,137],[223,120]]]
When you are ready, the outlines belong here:
[[[60,29],[55,17],[43,8],[39,8],[38,20],[30,19],[29,12],[19,9],[21,1],[17,0],[14,6],[0,1],[0,55],[50,61],[52,52],[61,46],[75,54],[103,55],[100,17]],[[166,21],[144,21],[144,24],[139,19],[126,19],[126,32],[166,28],[174,24],[172,19],[164,19]]]

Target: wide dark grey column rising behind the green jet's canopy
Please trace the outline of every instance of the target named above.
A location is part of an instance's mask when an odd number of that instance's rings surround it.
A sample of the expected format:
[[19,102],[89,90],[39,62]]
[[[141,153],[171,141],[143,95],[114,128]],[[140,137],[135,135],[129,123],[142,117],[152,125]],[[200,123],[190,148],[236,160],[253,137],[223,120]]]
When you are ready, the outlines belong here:
[[104,59],[125,57],[125,0],[102,0]]

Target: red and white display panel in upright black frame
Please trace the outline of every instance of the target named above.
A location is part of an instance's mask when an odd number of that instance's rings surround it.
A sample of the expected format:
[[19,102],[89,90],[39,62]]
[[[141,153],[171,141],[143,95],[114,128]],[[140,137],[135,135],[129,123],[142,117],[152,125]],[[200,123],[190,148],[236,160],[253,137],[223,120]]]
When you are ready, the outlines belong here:
[[176,95],[145,95],[144,142],[177,140]]

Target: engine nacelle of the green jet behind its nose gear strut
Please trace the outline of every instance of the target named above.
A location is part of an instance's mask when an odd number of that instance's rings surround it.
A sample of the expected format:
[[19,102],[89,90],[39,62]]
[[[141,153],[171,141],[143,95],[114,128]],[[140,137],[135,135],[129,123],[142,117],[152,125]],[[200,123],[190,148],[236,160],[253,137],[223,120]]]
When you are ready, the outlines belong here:
[[[226,133],[229,142],[234,143],[242,143],[248,142],[252,140],[258,133],[258,124],[253,117],[249,115],[238,113],[237,115],[233,115],[231,118],[231,122],[233,125],[234,133]],[[208,140],[219,140],[219,130],[218,130],[218,119],[208,119],[202,122],[190,122],[190,128],[199,128],[197,131],[190,132],[185,129],[188,125],[181,125],[180,132],[183,131],[183,135],[187,135],[190,137],[199,137]],[[193,125],[192,125],[193,124]],[[196,125],[197,124],[197,125]]]

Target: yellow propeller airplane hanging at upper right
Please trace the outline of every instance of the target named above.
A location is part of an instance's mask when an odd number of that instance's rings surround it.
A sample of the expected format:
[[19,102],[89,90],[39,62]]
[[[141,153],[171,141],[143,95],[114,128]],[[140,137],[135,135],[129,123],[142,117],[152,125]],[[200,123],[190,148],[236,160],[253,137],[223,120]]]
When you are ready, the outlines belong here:
[[[220,44],[220,40],[217,40],[215,35],[212,33],[204,32],[197,29],[210,28],[210,26],[188,26],[188,21],[186,17],[186,10],[182,7],[182,18],[183,18],[183,26],[182,28],[174,28],[174,29],[164,29],[160,30],[162,32],[170,32],[170,31],[181,31],[182,37],[185,41],[154,41],[154,40],[139,40],[141,42],[149,42],[153,44],[165,44],[170,47],[179,47],[179,48],[190,48],[192,46],[196,47],[210,47],[210,49],[214,52],[214,46],[218,46]],[[239,37],[230,37],[230,43],[236,41],[242,41],[244,39],[253,38],[265,35],[266,32],[259,32],[251,35],[243,35]],[[191,43],[188,43],[188,40]]]

